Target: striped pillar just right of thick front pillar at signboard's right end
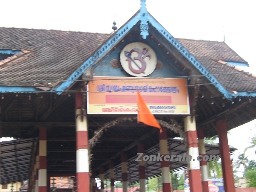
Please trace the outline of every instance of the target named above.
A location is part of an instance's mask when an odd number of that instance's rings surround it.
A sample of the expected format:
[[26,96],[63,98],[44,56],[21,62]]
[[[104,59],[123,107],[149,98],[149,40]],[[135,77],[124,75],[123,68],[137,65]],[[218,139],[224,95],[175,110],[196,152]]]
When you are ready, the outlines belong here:
[[204,156],[206,156],[206,150],[204,145],[204,130],[202,128],[198,128],[197,133],[198,133],[198,143],[199,143],[199,154],[202,156],[200,165],[201,165],[203,192],[209,192],[207,160],[204,160]]

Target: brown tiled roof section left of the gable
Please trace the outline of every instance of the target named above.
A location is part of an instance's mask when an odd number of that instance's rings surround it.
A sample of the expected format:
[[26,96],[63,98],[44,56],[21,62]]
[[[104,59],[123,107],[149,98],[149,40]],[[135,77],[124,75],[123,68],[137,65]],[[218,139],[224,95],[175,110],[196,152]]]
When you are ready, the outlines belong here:
[[66,79],[109,36],[89,32],[0,28],[0,49],[32,50],[0,66],[0,84],[49,87],[48,83]]

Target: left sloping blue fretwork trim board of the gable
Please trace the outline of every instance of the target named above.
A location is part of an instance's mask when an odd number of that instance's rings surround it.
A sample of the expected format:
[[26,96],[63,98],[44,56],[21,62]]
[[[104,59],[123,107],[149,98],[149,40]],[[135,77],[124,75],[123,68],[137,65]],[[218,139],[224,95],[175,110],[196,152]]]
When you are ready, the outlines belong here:
[[125,26],[120,28],[112,38],[110,38],[107,43],[102,45],[90,58],[88,58],[76,71],[74,71],[62,84],[58,87],[52,89],[52,91],[56,91],[57,94],[61,94],[65,89],[70,87],[71,84],[74,83],[76,79],[78,79],[84,71],[86,71],[90,66],[92,66],[97,59],[105,55],[106,52],[113,48],[113,45],[119,42],[122,37],[129,32],[129,30],[139,21],[138,16],[132,18]]

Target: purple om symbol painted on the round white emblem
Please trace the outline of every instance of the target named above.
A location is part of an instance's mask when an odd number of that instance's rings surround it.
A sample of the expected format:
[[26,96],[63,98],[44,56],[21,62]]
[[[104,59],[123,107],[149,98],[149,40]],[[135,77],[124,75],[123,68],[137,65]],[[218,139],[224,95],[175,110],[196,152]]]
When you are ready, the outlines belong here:
[[[138,56],[137,57],[134,57],[134,58],[131,58],[131,54],[133,52],[137,52],[138,53]],[[130,52],[128,51],[125,51],[125,56],[127,57],[126,61],[129,62],[129,69],[133,72],[133,73],[136,73],[136,74],[140,74],[140,73],[145,73],[145,69],[147,67],[147,64],[146,62],[144,61],[144,59],[146,57],[149,57],[149,59],[151,59],[151,55],[148,53],[148,49],[146,48],[143,48],[143,51],[141,51],[140,49],[138,48],[134,48],[134,49],[131,49]],[[135,64],[136,66],[136,69],[134,69],[134,67],[131,65],[132,63]],[[138,64],[139,63],[139,64]]]

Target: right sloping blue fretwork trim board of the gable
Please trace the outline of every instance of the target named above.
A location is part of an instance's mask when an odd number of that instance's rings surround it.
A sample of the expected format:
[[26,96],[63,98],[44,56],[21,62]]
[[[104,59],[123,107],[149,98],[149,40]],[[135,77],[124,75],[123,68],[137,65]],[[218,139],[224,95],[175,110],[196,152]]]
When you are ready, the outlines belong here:
[[176,49],[202,74],[208,79],[227,99],[232,99],[232,94],[226,90],[226,88],[214,77],[211,73],[199,62],[196,58],[189,53],[157,20],[154,19],[151,15],[148,15],[149,23],[154,26],[163,37],[169,41]]

